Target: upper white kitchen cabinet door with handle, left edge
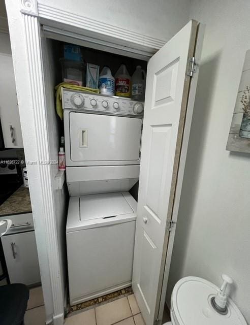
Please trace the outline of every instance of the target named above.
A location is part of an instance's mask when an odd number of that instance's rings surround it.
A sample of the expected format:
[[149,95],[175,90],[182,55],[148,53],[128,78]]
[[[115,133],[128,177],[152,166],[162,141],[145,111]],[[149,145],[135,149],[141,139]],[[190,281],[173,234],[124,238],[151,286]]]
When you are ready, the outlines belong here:
[[0,118],[6,148],[22,148],[12,56],[0,53]]

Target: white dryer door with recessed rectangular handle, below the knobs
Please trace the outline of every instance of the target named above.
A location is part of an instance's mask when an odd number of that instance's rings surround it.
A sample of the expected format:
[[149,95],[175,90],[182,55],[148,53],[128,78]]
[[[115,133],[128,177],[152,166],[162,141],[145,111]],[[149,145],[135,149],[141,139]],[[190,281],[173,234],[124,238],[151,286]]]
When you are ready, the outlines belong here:
[[140,164],[141,118],[70,112],[69,126],[75,166]]

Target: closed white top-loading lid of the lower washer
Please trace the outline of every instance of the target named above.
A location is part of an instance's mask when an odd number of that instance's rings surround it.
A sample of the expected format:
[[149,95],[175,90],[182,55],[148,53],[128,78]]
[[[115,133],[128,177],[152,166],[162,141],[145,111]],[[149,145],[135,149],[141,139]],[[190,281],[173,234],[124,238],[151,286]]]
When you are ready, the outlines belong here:
[[133,213],[122,193],[91,194],[80,197],[80,220],[108,218]]

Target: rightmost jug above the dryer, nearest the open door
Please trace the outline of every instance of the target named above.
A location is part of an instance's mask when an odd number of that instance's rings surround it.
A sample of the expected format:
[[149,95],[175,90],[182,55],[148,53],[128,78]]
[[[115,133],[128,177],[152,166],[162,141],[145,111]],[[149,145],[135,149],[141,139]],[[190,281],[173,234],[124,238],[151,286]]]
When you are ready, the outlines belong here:
[[144,101],[145,98],[146,73],[137,66],[132,76],[132,98],[136,101]]

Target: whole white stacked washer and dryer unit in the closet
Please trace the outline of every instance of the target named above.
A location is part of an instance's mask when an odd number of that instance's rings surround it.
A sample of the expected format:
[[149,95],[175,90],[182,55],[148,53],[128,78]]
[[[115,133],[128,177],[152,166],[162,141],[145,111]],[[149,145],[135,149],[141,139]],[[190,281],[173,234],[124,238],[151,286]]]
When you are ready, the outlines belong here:
[[143,103],[62,89],[70,304],[132,283]]

